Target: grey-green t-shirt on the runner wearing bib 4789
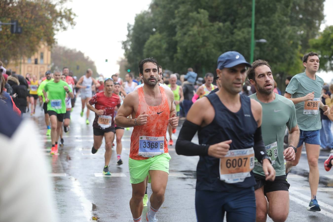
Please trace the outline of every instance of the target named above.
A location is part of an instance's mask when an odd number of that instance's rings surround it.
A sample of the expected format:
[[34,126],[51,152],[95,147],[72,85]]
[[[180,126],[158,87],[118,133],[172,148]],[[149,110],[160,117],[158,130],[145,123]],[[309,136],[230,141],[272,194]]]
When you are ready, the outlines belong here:
[[[321,90],[324,80],[316,75],[316,80],[312,80],[305,73],[295,75],[286,88],[286,93],[291,94],[291,98],[304,97],[314,92],[314,101],[300,102],[295,104],[298,127],[304,131],[321,129],[319,104]],[[304,106],[305,103],[305,106]],[[315,109],[314,109],[315,108]],[[317,111],[316,111],[317,110]],[[316,111],[316,114],[313,113]]]

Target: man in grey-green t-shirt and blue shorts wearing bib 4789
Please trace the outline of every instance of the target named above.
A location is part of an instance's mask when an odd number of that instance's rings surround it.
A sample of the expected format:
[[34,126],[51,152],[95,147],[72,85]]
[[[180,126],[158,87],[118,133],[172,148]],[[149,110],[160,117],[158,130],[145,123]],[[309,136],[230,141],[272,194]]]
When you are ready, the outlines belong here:
[[288,84],[284,97],[290,99],[296,108],[297,124],[300,129],[300,138],[297,145],[297,153],[294,161],[287,161],[286,173],[292,166],[296,166],[301,158],[303,143],[305,142],[306,155],[309,163],[309,184],[311,200],[308,206],[310,211],[320,211],[316,199],[319,169],[318,157],[320,151],[320,112],[319,108],[328,115],[330,108],[320,102],[321,90],[324,85],[322,78],[316,75],[319,69],[319,57],[317,53],[310,52],[303,56],[305,72],[295,75]]

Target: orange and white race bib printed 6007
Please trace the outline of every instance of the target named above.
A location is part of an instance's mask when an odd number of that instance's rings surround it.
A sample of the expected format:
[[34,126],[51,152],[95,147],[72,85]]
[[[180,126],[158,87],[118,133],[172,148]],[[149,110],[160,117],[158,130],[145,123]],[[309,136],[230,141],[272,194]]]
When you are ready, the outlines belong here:
[[243,182],[246,177],[251,176],[253,167],[253,147],[229,150],[223,158],[220,158],[220,180],[225,183]]

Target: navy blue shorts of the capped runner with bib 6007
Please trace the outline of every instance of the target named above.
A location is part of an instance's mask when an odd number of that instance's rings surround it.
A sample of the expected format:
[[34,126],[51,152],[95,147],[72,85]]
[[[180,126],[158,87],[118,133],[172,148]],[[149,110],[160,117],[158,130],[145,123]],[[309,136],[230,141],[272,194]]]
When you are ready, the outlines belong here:
[[255,222],[254,188],[244,188],[240,192],[195,191],[195,211],[198,222],[227,221]]

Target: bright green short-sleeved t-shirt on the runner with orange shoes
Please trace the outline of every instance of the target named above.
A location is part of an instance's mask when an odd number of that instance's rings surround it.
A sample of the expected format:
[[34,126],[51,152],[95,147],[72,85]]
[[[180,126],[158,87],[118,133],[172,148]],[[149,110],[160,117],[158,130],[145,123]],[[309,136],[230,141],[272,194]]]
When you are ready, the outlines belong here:
[[66,91],[64,86],[68,87],[70,92],[73,92],[69,85],[65,82],[60,80],[58,83],[54,81],[48,82],[44,90],[48,93],[48,99],[50,102],[47,103],[47,110],[55,111],[56,113],[66,113]]

